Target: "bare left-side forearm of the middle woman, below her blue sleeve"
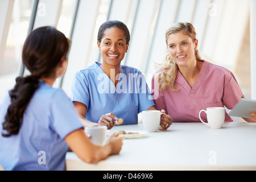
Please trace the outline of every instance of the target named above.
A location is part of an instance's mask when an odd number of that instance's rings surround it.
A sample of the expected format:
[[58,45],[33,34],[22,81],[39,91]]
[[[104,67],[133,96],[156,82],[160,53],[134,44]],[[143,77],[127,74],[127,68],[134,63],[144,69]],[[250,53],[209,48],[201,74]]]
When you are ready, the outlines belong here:
[[94,123],[85,118],[87,112],[87,107],[85,104],[77,101],[74,101],[73,104],[76,108],[77,115],[79,115],[80,122],[84,127],[98,126],[98,123]]

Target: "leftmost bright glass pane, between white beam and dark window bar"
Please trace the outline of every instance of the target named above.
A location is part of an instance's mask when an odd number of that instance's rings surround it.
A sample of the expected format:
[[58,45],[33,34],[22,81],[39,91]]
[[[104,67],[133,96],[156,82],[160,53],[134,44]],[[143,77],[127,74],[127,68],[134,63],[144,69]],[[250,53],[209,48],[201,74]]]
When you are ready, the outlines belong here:
[[32,0],[22,0],[14,3],[3,67],[0,70],[0,101],[2,101],[7,90],[14,86],[15,77],[19,75],[19,65],[22,62],[22,47],[27,37],[32,2]]

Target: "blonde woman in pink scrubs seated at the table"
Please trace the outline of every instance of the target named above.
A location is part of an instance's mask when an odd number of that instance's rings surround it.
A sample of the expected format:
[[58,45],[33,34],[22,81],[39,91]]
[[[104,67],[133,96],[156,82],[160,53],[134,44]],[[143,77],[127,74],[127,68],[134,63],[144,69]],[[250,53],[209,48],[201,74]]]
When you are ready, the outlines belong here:
[[[170,27],[166,43],[166,63],[152,78],[156,109],[166,110],[172,122],[200,122],[199,111],[207,107],[233,109],[243,97],[240,86],[228,69],[201,59],[191,23]],[[206,121],[206,114],[201,113],[201,118]],[[227,113],[225,122],[233,122]]]

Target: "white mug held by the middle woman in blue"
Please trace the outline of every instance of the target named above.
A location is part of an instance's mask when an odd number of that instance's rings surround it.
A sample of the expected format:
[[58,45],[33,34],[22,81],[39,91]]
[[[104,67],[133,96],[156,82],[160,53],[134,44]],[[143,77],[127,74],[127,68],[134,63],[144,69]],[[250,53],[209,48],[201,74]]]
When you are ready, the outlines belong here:
[[158,131],[160,127],[161,113],[159,110],[144,110],[142,111],[142,123],[144,129],[148,132]]

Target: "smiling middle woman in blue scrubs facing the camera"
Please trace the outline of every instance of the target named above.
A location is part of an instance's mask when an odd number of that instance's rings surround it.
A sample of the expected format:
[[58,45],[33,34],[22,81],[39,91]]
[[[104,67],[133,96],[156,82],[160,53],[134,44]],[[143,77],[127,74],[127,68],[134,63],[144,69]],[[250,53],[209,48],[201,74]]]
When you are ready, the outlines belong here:
[[[130,33],[126,25],[110,20],[98,31],[98,49],[102,64],[94,63],[78,71],[72,84],[72,101],[84,126],[104,125],[111,129],[118,118],[122,125],[137,124],[138,113],[156,110],[142,73],[121,65],[128,50]],[[172,123],[170,115],[162,114],[162,129]]]

